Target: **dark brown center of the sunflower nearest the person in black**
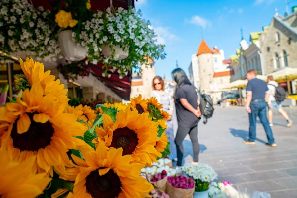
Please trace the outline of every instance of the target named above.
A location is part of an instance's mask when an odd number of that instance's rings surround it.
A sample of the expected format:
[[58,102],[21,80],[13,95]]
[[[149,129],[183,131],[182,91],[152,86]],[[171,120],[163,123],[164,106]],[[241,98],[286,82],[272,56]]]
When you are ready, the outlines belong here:
[[110,146],[114,148],[122,147],[123,155],[132,154],[137,145],[137,134],[133,130],[129,129],[128,127],[114,130]]

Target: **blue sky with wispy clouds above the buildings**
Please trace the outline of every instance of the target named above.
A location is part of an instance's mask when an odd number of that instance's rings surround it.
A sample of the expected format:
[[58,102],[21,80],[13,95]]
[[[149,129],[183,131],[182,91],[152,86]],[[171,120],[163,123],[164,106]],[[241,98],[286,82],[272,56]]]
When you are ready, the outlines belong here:
[[[297,0],[288,0],[289,9]],[[275,8],[284,15],[285,0],[138,0],[136,9],[150,20],[158,42],[166,45],[166,59],[155,63],[157,75],[171,79],[176,60],[188,73],[192,54],[203,39],[212,49],[223,49],[225,58],[235,54],[241,40],[269,25]]]

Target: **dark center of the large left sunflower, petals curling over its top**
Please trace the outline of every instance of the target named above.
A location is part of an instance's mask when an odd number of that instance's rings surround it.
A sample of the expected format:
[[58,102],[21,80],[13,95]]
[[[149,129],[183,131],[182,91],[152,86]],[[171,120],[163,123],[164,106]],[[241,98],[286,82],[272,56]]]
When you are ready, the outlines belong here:
[[29,130],[23,134],[18,134],[17,119],[13,124],[10,136],[13,140],[13,146],[21,151],[38,151],[50,144],[54,129],[49,121],[44,124],[35,122],[33,120],[34,113],[27,114],[31,120]]

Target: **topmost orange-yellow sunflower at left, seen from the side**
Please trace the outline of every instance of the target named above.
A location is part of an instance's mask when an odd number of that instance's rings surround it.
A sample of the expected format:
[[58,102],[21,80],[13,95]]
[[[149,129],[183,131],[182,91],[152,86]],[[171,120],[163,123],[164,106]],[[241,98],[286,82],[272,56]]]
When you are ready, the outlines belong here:
[[45,67],[40,62],[34,62],[33,59],[26,58],[26,61],[20,58],[21,68],[32,86],[34,83],[39,82],[44,90],[44,95],[52,93],[56,99],[67,99],[67,89],[64,89],[64,84],[60,84],[60,80],[54,80],[55,76],[49,75],[50,71],[46,71]]

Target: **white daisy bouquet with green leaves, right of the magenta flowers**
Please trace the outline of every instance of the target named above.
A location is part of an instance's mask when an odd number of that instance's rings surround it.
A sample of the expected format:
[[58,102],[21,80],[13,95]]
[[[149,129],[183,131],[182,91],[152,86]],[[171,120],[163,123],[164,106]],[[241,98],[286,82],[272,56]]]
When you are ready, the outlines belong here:
[[217,173],[207,164],[186,164],[183,171],[195,182],[195,191],[207,191],[210,183],[217,179]]

